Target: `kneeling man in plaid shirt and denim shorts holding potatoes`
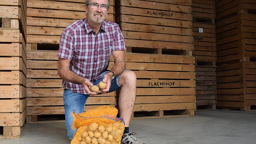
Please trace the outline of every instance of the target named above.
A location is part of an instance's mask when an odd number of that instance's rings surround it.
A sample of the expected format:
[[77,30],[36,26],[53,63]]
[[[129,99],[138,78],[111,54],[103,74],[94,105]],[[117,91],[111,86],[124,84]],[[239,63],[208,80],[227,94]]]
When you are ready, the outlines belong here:
[[[68,138],[72,140],[75,130],[72,111],[81,113],[89,95],[120,90],[119,112],[124,118],[125,130],[122,144],[145,144],[129,132],[130,117],[136,97],[136,75],[125,70],[124,38],[116,23],[105,20],[109,0],[86,0],[87,18],[66,27],[60,39],[58,74],[63,79],[64,107]],[[107,71],[112,52],[115,64]],[[107,87],[92,92],[90,87],[100,81]]]

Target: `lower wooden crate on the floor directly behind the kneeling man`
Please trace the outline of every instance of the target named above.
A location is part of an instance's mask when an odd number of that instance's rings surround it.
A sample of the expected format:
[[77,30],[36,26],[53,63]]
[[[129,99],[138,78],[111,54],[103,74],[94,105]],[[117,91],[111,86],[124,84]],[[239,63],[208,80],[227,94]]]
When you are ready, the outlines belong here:
[[[27,59],[27,123],[64,122],[50,121],[65,114],[57,51],[27,51]],[[115,107],[115,93],[90,96],[85,111],[101,105]]]

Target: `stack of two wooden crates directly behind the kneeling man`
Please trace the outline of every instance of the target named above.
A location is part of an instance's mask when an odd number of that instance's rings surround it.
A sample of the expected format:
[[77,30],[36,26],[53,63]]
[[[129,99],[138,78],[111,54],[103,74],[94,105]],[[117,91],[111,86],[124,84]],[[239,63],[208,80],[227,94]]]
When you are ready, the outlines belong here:
[[[114,21],[113,4],[110,0],[109,21]],[[57,50],[64,28],[86,17],[85,0],[28,0],[27,6],[27,123],[63,122]],[[85,110],[101,105],[114,107],[115,93],[89,97]]]

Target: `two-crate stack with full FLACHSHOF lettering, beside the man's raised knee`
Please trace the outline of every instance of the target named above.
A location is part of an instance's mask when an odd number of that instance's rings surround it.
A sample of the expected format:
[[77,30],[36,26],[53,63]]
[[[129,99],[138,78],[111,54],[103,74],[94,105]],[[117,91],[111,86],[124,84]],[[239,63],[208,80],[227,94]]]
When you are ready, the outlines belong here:
[[137,75],[133,118],[194,115],[192,2],[116,0],[115,5],[127,69]]

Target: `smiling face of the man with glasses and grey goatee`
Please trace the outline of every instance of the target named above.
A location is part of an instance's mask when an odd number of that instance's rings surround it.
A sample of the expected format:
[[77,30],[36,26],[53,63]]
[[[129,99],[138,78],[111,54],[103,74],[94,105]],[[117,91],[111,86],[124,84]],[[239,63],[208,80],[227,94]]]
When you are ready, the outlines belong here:
[[108,14],[108,9],[102,10],[100,6],[98,8],[95,8],[93,7],[93,4],[105,5],[107,7],[108,0],[90,0],[89,3],[90,4],[85,8],[87,13],[87,19],[91,22],[101,24]]

